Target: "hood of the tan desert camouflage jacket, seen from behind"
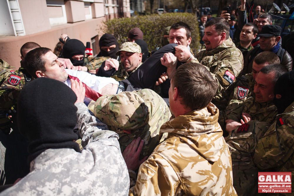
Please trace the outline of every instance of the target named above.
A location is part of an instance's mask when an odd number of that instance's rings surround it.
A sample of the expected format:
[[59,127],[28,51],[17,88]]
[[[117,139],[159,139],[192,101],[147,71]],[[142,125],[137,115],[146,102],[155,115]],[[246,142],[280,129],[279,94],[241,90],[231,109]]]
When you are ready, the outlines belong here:
[[160,134],[174,133],[206,160],[216,162],[225,144],[218,115],[218,108],[209,103],[206,108],[193,110],[164,123]]

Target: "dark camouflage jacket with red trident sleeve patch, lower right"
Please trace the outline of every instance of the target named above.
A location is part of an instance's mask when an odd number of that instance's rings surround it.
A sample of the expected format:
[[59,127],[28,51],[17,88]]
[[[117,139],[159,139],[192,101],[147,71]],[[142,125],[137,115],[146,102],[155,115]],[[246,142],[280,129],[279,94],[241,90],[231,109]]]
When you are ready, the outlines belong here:
[[239,196],[257,194],[258,168],[253,163],[253,153],[257,141],[269,125],[266,122],[250,120],[225,138],[232,157],[233,185]]

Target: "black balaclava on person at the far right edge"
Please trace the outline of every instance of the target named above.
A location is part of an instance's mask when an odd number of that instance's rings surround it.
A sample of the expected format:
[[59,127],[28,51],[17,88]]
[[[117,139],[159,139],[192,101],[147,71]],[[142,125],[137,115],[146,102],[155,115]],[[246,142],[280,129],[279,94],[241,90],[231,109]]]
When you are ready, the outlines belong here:
[[274,97],[273,103],[278,108],[278,113],[281,114],[294,101],[294,70],[284,73],[275,84],[274,94],[279,94],[282,97],[277,99]]

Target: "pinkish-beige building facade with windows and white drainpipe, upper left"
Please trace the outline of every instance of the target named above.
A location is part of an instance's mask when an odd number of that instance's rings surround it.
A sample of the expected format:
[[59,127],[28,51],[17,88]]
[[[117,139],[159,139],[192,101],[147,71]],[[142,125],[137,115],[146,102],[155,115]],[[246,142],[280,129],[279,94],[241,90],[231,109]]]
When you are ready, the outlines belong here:
[[62,33],[91,42],[99,53],[103,21],[130,17],[129,0],[1,0],[0,58],[19,68],[20,48],[29,41],[54,50]]

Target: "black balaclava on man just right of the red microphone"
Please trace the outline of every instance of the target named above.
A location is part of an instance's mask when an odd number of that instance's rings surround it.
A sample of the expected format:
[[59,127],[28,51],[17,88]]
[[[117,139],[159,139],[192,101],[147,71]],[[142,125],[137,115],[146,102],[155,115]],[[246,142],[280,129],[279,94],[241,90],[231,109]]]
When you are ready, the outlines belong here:
[[[115,49],[109,52],[101,50],[101,47],[103,46],[109,47],[112,45],[116,45],[116,47]],[[109,56],[111,58],[117,59],[116,52],[119,51],[119,46],[116,41],[116,38],[113,35],[105,33],[103,36],[101,36],[101,38],[99,39],[99,47],[100,47],[100,53],[98,54],[98,56]]]

